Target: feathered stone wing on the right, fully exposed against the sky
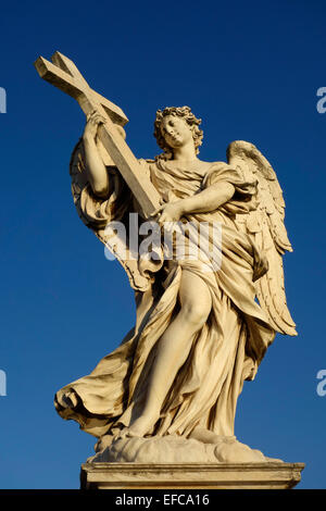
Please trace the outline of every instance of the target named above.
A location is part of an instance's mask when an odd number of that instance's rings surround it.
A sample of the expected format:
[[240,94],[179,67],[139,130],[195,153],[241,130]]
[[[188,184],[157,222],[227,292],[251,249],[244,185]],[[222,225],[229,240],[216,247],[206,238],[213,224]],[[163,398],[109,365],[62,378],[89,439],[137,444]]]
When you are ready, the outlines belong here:
[[253,174],[258,180],[258,208],[237,215],[237,224],[249,233],[268,262],[267,273],[255,281],[259,302],[276,332],[298,335],[285,294],[283,256],[292,247],[284,224],[285,201],[276,174],[256,147],[242,140],[229,145],[227,159],[244,177]]

